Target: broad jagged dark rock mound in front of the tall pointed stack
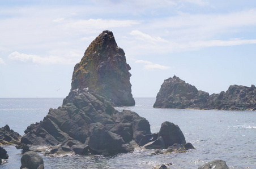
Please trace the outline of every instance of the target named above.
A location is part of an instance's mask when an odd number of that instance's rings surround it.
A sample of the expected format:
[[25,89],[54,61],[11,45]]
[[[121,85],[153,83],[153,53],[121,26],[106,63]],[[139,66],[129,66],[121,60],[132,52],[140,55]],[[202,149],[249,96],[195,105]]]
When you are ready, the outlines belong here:
[[62,106],[27,127],[20,145],[26,150],[46,146],[47,155],[108,155],[133,150],[129,143],[138,144],[148,134],[150,124],[135,112],[118,112],[104,97],[71,91]]

